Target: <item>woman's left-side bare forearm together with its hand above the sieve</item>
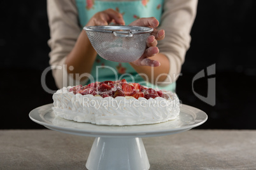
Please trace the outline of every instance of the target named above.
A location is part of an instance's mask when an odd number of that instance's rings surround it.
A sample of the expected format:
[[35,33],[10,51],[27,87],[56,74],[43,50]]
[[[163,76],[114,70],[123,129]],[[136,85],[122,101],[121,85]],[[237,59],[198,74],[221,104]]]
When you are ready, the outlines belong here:
[[[124,25],[123,16],[115,10],[108,9],[105,11],[101,11],[96,13],[86,26],[95,26],[95,25],[108,25],[109,23],[117,23],[120,25]],[[90,44],[90,41],[87,37],[87,34],[84,30],[80,33],[76,44],[69,55],[66,57],[66,65],[67,68],[72,66],[73,70],[67,70],[69,74],[79,76],[87,73],[90,74],[92,70],[92,66],[96,60],[96,51]],[[86,77],[82,77],[80,81],[86,79]]]

